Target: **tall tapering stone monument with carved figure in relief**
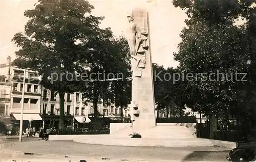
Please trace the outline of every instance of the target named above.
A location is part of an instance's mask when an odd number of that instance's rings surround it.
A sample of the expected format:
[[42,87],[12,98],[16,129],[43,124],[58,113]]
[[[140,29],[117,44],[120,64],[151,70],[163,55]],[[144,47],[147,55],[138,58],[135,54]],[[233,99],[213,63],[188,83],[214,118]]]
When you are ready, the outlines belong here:
[[127,15],[127,21],[126,38],[132,64],[130,115],[133,132],[140,132],[156,126],[148,13],[142,9],[133,9]]

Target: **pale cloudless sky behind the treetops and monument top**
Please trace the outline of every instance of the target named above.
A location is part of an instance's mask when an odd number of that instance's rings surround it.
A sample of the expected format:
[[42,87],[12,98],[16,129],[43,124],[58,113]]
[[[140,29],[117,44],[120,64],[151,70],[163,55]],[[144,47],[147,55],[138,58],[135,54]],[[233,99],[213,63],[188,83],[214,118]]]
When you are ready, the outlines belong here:
[[[15,59],[19,49],[13,36],[24,32],[24,25],[29,20],[24,16],[25,10],[34,8],[37,0],[0,0],[0,64],[7,63],[7,57]],[[144,8],[149,14],[152,61],[164,67],[177,67],[173,52],[181,41],[180,32],[187,18],[185,11],[175,8],[172,0],[91,0],[95,9],[94,16],[104,16],[100,27],[110,27],[117,37],[122,35],[127,24],[126,14],[133,8]]]

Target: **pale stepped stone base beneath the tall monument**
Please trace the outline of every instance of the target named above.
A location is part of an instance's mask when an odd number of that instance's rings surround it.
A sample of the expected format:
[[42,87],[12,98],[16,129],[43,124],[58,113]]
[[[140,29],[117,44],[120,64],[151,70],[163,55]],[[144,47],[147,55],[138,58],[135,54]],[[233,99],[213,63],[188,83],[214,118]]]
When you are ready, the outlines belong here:
[[[122,123],[116,123],[122,124]],[[193,124],[191,124],[192,128]],[[142,138],[131,138],[132,128],[124,127],[116,132],[99,135],[81,135],[74,142],[113,146],[152,146],[152,147],[209,147],[214,146],[210,140],[199,139],[185,125],[176,123],[159,123],[159,126],[140,129]]]

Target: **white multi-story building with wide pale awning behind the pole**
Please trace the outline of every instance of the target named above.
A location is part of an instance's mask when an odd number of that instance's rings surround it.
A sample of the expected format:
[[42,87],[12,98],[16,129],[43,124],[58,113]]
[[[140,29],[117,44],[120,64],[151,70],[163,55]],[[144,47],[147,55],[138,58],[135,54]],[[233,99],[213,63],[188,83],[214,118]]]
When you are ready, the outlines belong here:
[[[25,84],[23,80],[25,77]],[[15,66],[11,67],[11,106],[10,116],[16,120],[21,119],[22,93],[24,89],[23,120],[32,121],[32,125],[39,128],[42,118],[40,117],[41,107],[41,86],[40,79],[36,72]]]

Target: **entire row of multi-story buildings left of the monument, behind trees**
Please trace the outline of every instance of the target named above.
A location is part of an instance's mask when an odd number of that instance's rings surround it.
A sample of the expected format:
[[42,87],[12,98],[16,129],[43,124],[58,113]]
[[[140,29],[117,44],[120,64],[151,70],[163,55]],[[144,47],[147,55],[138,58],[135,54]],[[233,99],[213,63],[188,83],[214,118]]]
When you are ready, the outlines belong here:
[[[25,84],[23,84],[25,77]],[[40,85],[38,73],[26,69],[11,66],[11,58],[7,64],[0,65],[0,116],[19,121],[22,111],[22,93],[24,91],[23,120],[25,123],[32,121],[32,125],[57,126],[59,123],[59,95]],[[65,94],[64,101],[65,126],[78,127],[83,123],[82,118],[94,114],[93,103],[84,104],[82,93]],[[116,107],[115,104],[106,105],[98,103],[100,117],[127,117],[124,108]],[[37,124],[36,124],[37,123]],[[25,124],[27,125],[27,124]]]

